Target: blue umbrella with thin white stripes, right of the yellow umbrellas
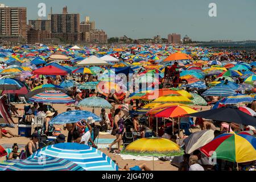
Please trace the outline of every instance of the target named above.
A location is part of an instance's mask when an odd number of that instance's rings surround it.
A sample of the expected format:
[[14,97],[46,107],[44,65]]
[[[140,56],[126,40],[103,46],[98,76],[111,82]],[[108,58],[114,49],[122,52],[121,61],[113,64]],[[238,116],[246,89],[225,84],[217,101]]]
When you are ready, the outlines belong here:
[[234,90],[230,89],[228,86],[214,86],[206,90],[202,95],[203,96],[220,96],[220,97],[228,97],[236,94]]

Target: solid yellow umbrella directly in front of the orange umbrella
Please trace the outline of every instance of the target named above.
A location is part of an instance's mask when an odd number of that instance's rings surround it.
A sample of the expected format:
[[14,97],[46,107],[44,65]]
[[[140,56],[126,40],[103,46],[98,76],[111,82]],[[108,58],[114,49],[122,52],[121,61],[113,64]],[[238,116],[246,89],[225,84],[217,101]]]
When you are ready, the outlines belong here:
[[175,102],[175,103],[183,103],[183,104],[191,104],[192,101],[184,96],[162,96],[153,101],[153,103],[167,103],[167,102]]

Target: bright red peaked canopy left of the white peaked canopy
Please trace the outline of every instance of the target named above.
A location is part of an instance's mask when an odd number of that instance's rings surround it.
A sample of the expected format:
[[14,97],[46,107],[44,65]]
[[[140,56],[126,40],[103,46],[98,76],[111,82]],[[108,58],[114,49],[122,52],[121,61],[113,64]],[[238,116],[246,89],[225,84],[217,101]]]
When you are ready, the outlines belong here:
[[52,65],[48,65],[43,68],[36,69],[32,71],[33,75],[67,75],[66,71],[63,71],[60,68],[56,68]]

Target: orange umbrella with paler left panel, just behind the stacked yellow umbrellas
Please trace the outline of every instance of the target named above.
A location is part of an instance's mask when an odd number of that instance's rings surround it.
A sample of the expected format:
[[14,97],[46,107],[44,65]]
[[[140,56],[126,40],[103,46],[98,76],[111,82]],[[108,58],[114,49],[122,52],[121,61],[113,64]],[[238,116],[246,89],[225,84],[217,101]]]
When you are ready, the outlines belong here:
[[159,90],[155,90],[154,92],[146,93],[144,96],[141,97],[141,100],[155,100],[158,97],[167,96],[167,95],[181,96],[181,94],[175,90],[159,89]]

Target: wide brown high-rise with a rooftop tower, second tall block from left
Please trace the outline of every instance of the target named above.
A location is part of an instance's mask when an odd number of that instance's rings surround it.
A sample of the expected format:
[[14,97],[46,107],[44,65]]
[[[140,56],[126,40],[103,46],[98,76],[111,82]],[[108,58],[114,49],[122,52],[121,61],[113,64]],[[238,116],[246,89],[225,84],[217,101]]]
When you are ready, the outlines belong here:
[[52,38],[59,38],[64,42],[80,40],[80,15],[68,14],[67,6],[62,14],[51,14]]

